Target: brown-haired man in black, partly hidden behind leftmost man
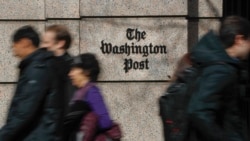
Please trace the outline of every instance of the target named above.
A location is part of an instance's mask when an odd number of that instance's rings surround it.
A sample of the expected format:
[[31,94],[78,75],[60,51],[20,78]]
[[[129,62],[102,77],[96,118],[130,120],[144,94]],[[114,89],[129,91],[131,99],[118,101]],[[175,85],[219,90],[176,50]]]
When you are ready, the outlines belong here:
[[46,48],[55,56],[55,67],[60,76],[60,93],[64,101],[64,113],[66,113],[68,103],[75,91],[68,77],[72,57],[67,51],[70,48],[71,42],[72,37],[67,27],[55,24],[45,29],[41,44],[42,48]]

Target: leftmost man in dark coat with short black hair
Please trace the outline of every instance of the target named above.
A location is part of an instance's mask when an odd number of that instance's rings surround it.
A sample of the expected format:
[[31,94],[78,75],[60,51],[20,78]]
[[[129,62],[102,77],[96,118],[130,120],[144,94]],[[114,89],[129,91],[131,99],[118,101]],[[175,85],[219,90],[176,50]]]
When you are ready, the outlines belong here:
[[19,79],[0,141],[56,141],[62,117],[53,54],[38,49],[39,35],[31,26],[12,37],[13,54],[20,58]]

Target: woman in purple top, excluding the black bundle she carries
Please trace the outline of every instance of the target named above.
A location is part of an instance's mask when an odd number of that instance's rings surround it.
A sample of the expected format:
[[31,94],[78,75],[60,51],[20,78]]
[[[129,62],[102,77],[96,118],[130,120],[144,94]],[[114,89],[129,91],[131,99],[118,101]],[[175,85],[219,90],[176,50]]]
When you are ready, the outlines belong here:
[[78,90],[71,103],[83,100],[90,108],[90,112],[81,122],[76,135],[77,141],[95,140],[94,135],[110,129],[113,125],[100,89],[95,84],[99,72],[100,67],[95,55],[85,53],[74,58],[69,77]]

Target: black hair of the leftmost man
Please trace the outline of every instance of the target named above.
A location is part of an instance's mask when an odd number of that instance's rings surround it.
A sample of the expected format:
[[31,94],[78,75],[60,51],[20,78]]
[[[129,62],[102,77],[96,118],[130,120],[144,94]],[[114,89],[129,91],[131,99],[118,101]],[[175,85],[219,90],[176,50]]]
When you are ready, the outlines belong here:
[[40,38],[38,32],[30,25],[23,26],[15,31],[12,36],[12,42],[18,42],[23,38],[31,40],[35,47],[40,44]]

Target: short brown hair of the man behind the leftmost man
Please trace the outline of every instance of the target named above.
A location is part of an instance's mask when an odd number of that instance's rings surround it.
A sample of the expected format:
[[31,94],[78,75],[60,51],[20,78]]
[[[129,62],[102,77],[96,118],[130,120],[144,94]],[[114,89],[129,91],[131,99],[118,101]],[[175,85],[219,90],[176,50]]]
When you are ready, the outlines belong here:
[[56,41],[65,41],[63,46],[64,49],[69,49],[72,38],[71,34],[66,26],[63,25],[51,25],[45,29],[45,31],[51,31],[55,33],[55,40]]

